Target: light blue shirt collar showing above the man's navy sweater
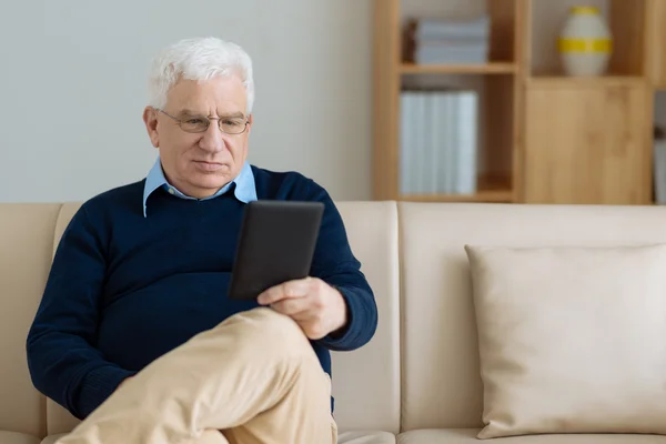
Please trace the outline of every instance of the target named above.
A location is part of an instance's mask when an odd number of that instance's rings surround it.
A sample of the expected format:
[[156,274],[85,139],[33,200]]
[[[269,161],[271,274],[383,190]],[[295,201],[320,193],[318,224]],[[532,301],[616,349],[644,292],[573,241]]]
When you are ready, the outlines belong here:
[[163,186],[170,194],[181,199],[206,201],[209,199],[215,199],[219,195],[222,195],[225,192],[228,192],[232,183],[235,183],[235,190],[233,193],[239,201],[249,203],[256,200],[256,185],[254,184],[254,174],[252,173],[252,168],[248,162],[243,164],[243,168],[241,169],[239,175],[234,180],[229,182],[226,185],[224,185],[215,194],[209,198],[196,199],[183,194],[175,186],[169,183],[169,181],[164,176],[164,171],[162,170],[162,162],[160,161],[160,157],[158,155],[158,160],[148,173],[148,176],[145,178],[145,185],[143,186],[143,216],[145,218],[148,214],[148,198],[152,194],[153,191],[155,191],[160,186]]

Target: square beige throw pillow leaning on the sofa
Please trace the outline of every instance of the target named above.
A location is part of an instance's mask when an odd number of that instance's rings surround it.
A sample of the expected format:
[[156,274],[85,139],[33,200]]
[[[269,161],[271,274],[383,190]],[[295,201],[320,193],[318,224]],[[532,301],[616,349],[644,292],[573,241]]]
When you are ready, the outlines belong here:
[[480,437],[666,434],[666,244],[466,251]]

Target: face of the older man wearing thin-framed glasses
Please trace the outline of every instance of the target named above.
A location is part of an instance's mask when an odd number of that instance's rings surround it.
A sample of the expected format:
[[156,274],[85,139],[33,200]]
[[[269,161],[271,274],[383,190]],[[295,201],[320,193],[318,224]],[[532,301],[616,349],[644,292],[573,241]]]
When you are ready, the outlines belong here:
[[[163,111],[180,120],[200,122],[212,118],[208,130],[190,133],[164,113],[147,108],[143,113],[152,144],[160,150],[162,168],[171,184],[181,192],[206,198],[231,182],[248,158],[252,117],[245,115],[248,95],[236,75],[206,81],[180,80],[170,91]],[[220,130],[219,120],[229,125],[241,122],[240,134]]]

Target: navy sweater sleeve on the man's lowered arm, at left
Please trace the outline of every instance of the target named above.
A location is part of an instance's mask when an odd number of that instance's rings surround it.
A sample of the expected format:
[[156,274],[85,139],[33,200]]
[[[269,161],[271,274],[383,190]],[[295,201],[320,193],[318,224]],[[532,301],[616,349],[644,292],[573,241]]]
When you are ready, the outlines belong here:
[[34,386],[80,420],[133,374],[93,345],[105,275],[99,232],[82,206],[60,241],[27,339]]

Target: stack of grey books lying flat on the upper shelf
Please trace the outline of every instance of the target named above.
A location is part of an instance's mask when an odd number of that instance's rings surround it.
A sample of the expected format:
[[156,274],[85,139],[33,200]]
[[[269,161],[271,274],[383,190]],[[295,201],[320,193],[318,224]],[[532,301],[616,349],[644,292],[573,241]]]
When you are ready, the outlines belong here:
[[405,59],[417,64],[483,64],[488,61],[491,19],[411,20]]

